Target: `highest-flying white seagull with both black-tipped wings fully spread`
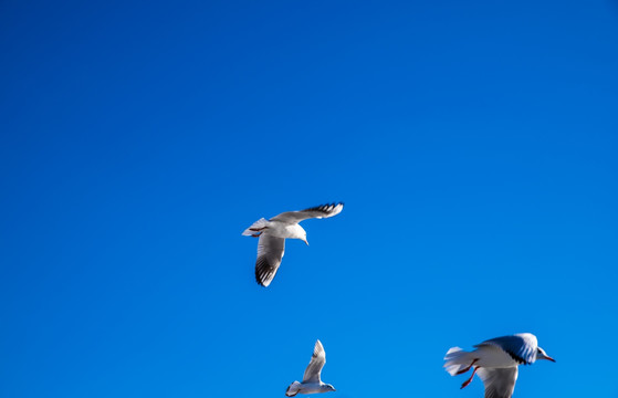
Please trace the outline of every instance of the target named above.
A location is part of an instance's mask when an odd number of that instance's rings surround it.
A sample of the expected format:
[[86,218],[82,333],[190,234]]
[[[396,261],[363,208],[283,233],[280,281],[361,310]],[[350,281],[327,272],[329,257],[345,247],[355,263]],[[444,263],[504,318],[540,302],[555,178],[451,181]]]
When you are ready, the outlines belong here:
[[266,287],[271,284],[285,249],[285,239],[300,239],[308,245],[307,233],[298,222],[310,218],[328,218],[342,212],[344,203],[321,205],[300,211],[286,211],[270,220],[259,219],[242,232],[245,237],[260,237],[255,280]]

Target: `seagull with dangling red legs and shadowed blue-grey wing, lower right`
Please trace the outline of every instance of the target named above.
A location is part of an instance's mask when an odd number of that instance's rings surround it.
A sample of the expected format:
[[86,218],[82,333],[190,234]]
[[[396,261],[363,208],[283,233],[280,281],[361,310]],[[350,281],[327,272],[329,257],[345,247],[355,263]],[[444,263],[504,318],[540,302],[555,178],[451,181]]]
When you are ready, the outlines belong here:
[[468,386],[478,373],[485,385],[485,398],[511,398],[517,380],[517,366],[531,365],[536,359],[556,362],[545,354],[531,333],[520,333],[489,339],[475,345],[473,352],[452,347],[444,357],[444,367],[451,376],[472,370],[472,376],[461,388]]

